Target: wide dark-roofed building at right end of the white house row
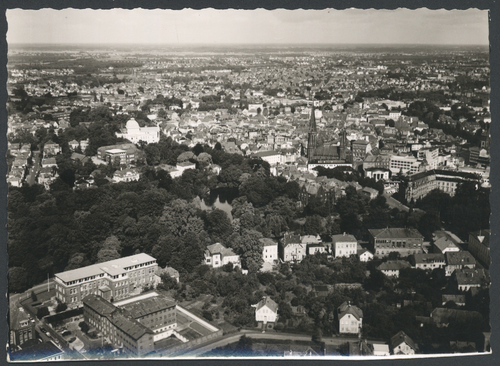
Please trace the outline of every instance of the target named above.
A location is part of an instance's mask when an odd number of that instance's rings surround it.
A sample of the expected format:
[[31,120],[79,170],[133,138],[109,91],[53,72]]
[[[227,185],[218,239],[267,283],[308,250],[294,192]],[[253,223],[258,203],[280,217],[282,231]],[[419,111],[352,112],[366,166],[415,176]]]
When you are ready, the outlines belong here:
[[391,252],[397,252],[402,257],[422,253],[424,237],[416,229],[369,229],[368,232],[370,244],[377,257],[387,257]]

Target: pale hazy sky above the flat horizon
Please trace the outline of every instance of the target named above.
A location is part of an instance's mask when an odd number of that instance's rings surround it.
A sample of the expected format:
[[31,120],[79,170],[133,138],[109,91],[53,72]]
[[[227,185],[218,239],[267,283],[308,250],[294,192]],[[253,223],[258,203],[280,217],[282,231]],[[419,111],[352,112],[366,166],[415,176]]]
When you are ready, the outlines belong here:
[[7,42],[488,45],[488,11],[7,10]]

